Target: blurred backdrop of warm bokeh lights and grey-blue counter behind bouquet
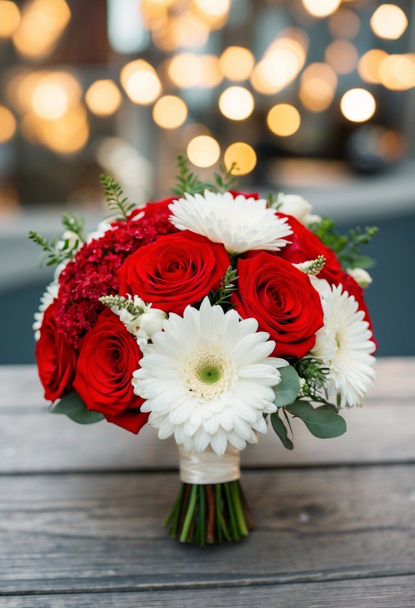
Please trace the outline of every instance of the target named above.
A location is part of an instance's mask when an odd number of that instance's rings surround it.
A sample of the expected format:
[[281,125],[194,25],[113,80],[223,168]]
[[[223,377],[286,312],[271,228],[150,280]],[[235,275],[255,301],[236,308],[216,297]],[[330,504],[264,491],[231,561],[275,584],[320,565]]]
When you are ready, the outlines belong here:
[[[377,224],[378,354],[415,354],[413,0],[0,0],[0,362],[34,361],[34,229],[106,215],[99,174],[169,195],[175,157]],[[409,280],[408,280],[409,279]],[[10,314],[11,313],[11,314]]]

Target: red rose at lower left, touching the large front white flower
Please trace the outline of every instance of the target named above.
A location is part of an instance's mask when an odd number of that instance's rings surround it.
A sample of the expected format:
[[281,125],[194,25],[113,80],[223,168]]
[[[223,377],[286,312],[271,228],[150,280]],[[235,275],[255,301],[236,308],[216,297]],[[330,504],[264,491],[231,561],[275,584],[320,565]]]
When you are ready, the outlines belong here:
[[148,413],[140,412],[143,400],[134,395],[131,384],[140,359],[136,340],[107,308],[80,341],[74,380],[74,389],[89,410],[133,433],[148,418]]

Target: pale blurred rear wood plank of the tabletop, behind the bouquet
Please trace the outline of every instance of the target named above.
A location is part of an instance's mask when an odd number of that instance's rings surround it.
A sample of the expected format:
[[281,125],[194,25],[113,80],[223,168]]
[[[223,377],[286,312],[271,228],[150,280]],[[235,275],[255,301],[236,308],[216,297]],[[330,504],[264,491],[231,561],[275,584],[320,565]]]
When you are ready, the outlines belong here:
[[[176,469],[173,440],[146,426],[138,436],[105,422],[82,426],[47,413],[35,367],[0,368],[0,472]],[[293,421],[295,449],[273,432],[242,452],[242,466],[312,466],[414,461],[415,359],[381,359],[366,405],[347,410],[347,433],[332,440]]]

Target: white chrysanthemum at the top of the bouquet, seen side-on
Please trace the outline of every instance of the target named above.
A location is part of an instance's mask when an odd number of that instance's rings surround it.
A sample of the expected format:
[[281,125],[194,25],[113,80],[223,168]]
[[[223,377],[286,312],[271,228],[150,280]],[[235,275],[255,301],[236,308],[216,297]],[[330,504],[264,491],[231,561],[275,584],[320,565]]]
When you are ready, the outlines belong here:
[[251,249],[279,251],[292,234],[286,218],[278,218],[274,209],[267,209],[267,201],[235,198],[230,192],[204,195],[185,194],[169,205],[173,215],[170,221],[179,230],[191,230],[208,237],[214,243],[223,243],[230,254],[242,254]]

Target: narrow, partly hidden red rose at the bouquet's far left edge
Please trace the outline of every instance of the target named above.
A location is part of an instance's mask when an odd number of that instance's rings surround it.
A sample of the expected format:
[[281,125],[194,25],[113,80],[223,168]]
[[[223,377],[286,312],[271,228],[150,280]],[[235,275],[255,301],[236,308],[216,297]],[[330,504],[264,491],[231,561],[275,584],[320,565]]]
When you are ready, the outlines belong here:
[[75,376],[77,351],[58,333],[55,303],[44,312],[40,338],[36,344],[36,359],[44,398],[55,401],[71,390]]

